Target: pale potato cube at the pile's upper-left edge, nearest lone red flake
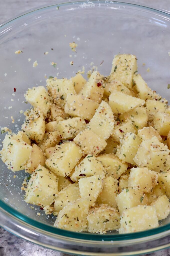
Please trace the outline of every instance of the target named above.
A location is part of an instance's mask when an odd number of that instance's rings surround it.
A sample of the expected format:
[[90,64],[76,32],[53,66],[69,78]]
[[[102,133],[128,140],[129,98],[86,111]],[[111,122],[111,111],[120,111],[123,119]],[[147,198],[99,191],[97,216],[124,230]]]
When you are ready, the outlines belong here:
[[34,108],[39,108],[47,116],[52,101],[44,86],[29,88],[24,96]]

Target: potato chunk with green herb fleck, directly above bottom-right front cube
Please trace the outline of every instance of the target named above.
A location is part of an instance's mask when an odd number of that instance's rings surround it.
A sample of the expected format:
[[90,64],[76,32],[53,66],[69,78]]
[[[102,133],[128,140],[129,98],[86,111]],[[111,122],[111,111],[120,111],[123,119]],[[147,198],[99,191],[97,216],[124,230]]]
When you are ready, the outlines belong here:
[[123,211],[138,205],[147,205],[147,196],[138,189],[126,188],[116,197],[120,215]]

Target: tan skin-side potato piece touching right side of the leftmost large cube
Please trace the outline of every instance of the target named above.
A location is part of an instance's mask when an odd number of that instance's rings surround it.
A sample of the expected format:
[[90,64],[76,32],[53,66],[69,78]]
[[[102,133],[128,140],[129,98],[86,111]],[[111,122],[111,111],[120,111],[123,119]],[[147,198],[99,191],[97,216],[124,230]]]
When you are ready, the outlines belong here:
[[39,164],[42,166],[45,164],[45,156],[41,149],[36,144],[33,144],[31,157],[25,167],[25,172],[32,173]]

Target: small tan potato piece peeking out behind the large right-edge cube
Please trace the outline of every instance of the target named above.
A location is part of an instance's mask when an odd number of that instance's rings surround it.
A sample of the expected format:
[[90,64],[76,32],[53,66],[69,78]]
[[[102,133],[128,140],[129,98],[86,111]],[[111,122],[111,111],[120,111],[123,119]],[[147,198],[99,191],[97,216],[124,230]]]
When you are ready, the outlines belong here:
[[152,127],[143,127],[141,130],[138,130],[138,137],[141,138],[142,141],[150,140],[152,137],[157,137],[160,142],[162,142],[162,138],[159,133]]

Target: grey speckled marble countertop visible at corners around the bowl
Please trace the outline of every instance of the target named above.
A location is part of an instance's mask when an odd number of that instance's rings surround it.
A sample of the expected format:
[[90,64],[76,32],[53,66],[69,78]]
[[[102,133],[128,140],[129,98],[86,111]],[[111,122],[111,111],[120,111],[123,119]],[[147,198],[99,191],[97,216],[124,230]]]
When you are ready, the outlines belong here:
[[[140,2],[143,4],[149,4],[155,8],[163,8],[170,10],[169,0],[133,0],[134,2]],[[0,24],[12,16],[18,15],[27,9],[35,8],[43,4],[54,3],[54,0],[5,0],[1,1],[0,8]],[[36,244],[32,244],[23,239],[20,239],[13,234],[0,228],[0,255],[1,256],[67,256],[61,252],[53,251],[50,249],[43,248]],[[162,250],[146,254],[148,256],[170,256],[170,249]]]

